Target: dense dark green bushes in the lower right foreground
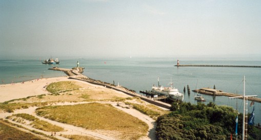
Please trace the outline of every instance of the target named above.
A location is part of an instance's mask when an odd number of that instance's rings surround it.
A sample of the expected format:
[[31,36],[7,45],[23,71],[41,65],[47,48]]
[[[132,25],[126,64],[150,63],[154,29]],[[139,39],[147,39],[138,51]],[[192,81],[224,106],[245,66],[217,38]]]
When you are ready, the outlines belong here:
[[[157,119],[158,139],[228,139],[234,133],[237,112],[232,107],[198,103],[173,103],[173,112]],[[242,118],[242,116],[238,116]],[[240,123],[241,122],[241,123]],[[242,120],[238,120],[238,138],[242,138]],[[241,131],[240,131],[241,130]],[[253,131],[258,131],[253,134]],[[248,139],[259,139],[261,131],[248,128]],[[259,136],[259,137],[258,137]],[[235,137],[234,137],[235,138]]]

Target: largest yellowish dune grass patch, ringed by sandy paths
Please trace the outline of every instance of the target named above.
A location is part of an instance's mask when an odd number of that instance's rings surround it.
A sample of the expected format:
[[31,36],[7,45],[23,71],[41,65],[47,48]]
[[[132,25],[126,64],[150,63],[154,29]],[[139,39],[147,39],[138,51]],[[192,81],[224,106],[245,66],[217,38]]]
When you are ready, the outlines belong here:
[[36,109],[36,113],[57,122],[90,130],[117,131],[118,136],[124,139],[138,139],[148,131],[146,123],[110,104],[47,106]]

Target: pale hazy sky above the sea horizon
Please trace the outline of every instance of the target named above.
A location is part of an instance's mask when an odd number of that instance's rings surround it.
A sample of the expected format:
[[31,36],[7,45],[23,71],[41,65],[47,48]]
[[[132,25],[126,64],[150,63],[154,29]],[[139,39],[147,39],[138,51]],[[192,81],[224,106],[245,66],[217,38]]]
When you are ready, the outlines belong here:
[[261,1],[0,0],[0,56],[261,55]]

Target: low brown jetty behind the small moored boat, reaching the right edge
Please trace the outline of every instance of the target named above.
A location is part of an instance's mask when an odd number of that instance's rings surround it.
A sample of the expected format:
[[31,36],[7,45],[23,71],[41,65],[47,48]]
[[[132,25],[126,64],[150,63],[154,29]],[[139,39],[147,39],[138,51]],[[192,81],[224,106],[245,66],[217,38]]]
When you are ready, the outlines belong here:
[[[201,88],[201,89],[196,89],[196,90],[192,90],[192,91],[198,92],[201,94],[212,95],[212,96],[228,96],[228,97],[241,96],[240,94],[223,92],[222,90],[216,90],[216,89],[211,89],[211,88]],[[240,99],[243,99],[243,97],[240,97]],[[257,97],[248,97],[248,100],[261,103],[261,98],[257,98]]]

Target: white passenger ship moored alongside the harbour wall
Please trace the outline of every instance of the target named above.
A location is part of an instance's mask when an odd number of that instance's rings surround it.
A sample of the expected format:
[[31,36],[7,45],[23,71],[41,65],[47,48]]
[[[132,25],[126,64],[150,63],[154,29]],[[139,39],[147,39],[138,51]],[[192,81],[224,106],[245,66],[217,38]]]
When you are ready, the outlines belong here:
[[183,101],[184,95],[182,93],[179,93],[178,89],[172,87],[173,83],[171,82],[171,78],[169,84],[170,87],[159,86],[159,79],[158,79],[158,87],[155,87],[155,85],[153,85],[151,92],[154,94],[164,95],[172,99]]

